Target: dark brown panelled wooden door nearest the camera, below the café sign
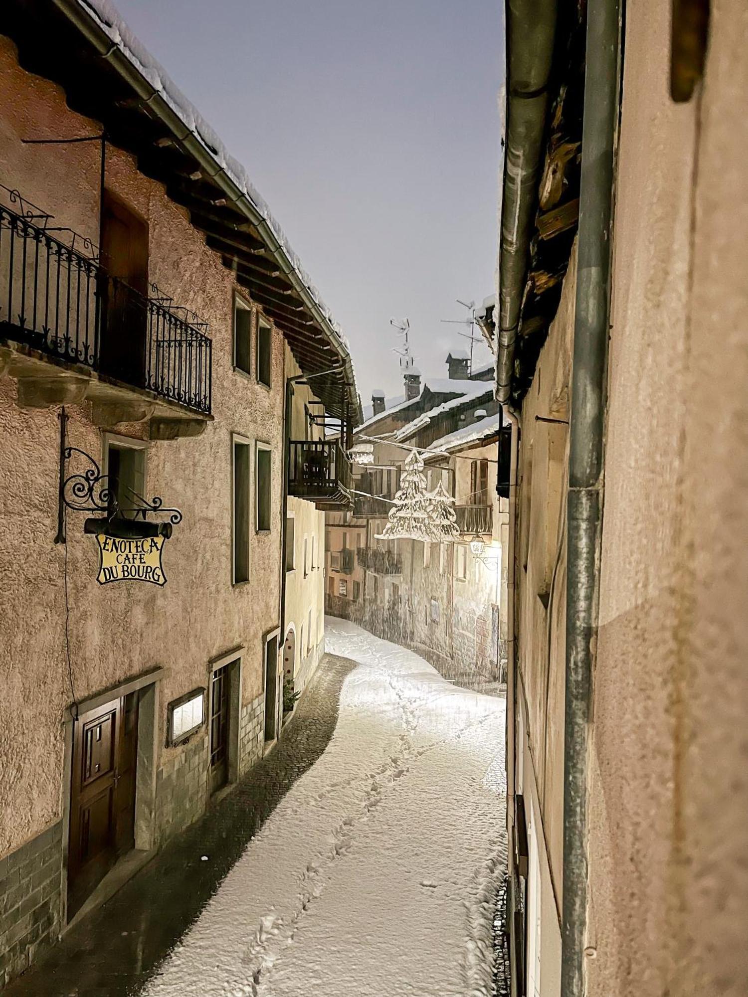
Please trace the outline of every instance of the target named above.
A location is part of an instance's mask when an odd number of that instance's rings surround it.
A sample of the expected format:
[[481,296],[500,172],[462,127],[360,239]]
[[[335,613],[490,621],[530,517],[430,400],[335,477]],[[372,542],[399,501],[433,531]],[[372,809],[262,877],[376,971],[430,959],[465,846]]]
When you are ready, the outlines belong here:
[[138,694],[83,714],[73,734],[69,914],[135,844]]

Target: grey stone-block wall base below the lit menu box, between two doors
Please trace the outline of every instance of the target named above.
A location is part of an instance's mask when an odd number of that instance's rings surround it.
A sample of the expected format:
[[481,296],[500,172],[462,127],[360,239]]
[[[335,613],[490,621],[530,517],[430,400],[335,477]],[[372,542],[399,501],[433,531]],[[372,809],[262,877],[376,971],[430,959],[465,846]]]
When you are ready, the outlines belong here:
[[157,839],[163,844],[205,811],[206,729],[156,774]]

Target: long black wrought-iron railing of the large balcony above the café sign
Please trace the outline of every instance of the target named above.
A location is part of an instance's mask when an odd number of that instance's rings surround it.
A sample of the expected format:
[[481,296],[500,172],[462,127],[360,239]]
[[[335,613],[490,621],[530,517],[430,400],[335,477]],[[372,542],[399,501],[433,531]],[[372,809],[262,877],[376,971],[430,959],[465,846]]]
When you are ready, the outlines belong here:
[[210,339],[73,243],[0,205],[0,336],[209,414]]

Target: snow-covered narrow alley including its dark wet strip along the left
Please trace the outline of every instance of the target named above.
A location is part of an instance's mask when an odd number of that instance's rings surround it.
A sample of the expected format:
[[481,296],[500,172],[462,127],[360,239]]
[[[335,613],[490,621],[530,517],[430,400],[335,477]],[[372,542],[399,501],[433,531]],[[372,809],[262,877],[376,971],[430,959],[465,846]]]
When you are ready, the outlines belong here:
[[9,997],[494,992],[505,702],[325,624],[274,751]]

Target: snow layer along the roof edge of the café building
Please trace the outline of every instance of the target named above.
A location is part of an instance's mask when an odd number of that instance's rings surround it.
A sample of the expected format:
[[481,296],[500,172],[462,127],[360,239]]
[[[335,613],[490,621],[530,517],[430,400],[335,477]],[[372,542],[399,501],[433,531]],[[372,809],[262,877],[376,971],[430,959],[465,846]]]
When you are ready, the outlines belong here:
[[343,336],[340,326],[322,301],[319,291],[314,286],[309,274],[301,266],[301,260],[291,248],[282,228],[270,213],[267,202],[251,183],[244,166],[235,160],[227,151],[218,135],[205,121],[193,104],[187,100],[177,84],[171,79],[164,67],[151,55],[145,45],[125,23],[122,15],[111,3],[111,0],[78,0],[79,6],[89,17],[93,17],[102,31],[112,40],[112,43],[122,52],[125,58],[134,66],[138,73],[158,91],[161,97],[172,108],[183,125],[195,139],[204,147],[212,159],[228,174],[239,190],[251,201],[255,209],[267,222],[272,234],[282,246],[293,269],[309,291],[319,309],[324,314],[330,326],[343,343],[349,348],[348,341]]

